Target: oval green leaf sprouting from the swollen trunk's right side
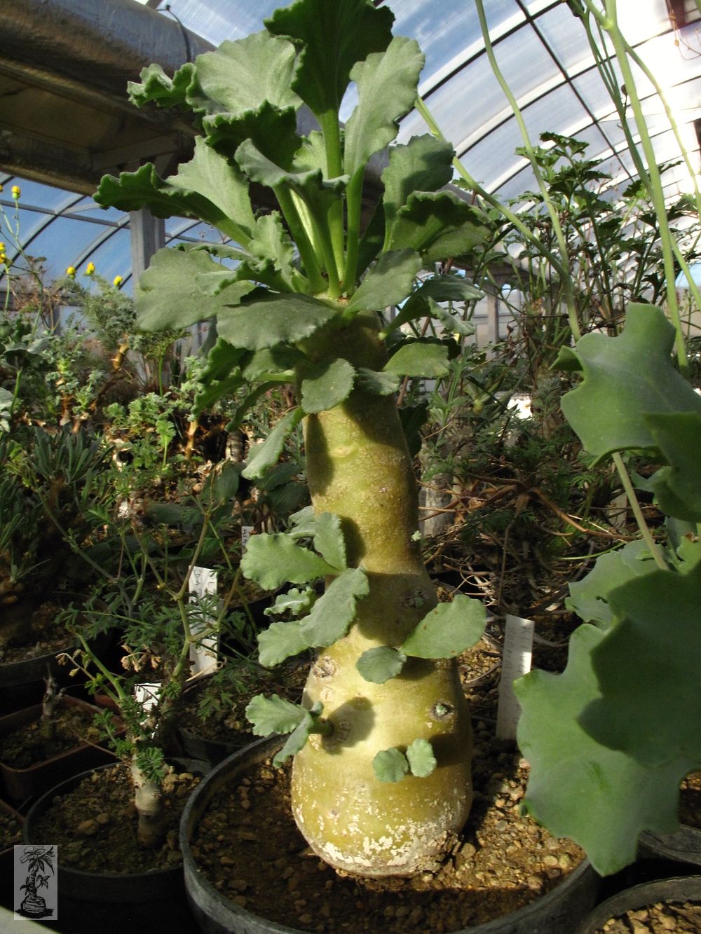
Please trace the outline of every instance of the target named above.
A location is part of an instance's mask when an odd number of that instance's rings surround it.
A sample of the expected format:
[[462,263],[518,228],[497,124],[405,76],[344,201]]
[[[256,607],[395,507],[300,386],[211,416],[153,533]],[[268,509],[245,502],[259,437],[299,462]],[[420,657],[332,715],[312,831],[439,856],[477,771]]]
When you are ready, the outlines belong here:
[[401,651],[416,658],[455,658],[478,641],[486,623],[482,603],[457,594],[423,617]]

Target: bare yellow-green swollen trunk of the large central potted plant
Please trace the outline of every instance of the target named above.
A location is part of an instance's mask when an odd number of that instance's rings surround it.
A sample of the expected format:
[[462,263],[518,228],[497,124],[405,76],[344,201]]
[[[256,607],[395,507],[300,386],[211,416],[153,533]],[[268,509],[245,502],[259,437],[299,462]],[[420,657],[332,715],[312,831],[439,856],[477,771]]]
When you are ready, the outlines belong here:
[[[383,350],[369,319],[334,337],[354,366],[380,369]],[[337,351],[336,351],[337,352]],[[307,472],[317,513],[342,517],[349,564],[370,591],[349,634],[324,649],[308,677],[308,702],[322,701],[333,726],[314,735],[293,764],[293,814],[311,847],[336,868],[402,875],[435,862],[472,800],[471,729],[454,662],[411,658],[382,685],[355,664],[366,649],[401,645],[435,605],[422,563],[417,490],[392,397],[355,390],[306,421]],[[373,758],[432,743],[426,778],[380,782]]]

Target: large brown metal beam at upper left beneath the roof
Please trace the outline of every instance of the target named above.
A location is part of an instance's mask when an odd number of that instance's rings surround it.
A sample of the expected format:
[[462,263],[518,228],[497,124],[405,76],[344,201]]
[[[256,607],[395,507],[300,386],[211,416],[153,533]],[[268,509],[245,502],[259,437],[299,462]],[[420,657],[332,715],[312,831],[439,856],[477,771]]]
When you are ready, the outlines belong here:
[[135,0],[0,0],[0,166],[92,193],[106,172],[172,153],[193,126],[137,110],[126,85],[151,62],[171,73],[213,47]]

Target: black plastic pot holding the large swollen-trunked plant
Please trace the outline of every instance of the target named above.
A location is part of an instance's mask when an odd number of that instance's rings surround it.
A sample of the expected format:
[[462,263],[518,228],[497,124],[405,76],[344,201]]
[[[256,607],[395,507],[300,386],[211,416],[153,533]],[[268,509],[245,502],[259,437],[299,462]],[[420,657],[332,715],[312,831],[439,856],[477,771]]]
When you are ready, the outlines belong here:
[[[183,811],[180,850],[185,888],[197,924],[206,934],[299,932],[296,927],[285,927],[250,913],[223,896],[199,870],[190,845],[194,831],[216,792],[239,773],[274,755],[281,745],[279,737],[259,740],[225,759],[200,782]],[[600,881],[600,877],[585,861],[547,895],[517,912],[484,925],[467,928],[465,934],[565,934],[574,930],[580,919],[594,906]]]

